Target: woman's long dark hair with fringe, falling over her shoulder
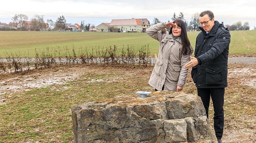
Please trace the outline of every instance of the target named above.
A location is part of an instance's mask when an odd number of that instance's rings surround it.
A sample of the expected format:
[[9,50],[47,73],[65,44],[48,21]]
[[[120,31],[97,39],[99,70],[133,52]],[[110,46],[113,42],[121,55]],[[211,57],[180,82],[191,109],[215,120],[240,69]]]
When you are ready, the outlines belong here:
[[[186,25],[185,22],[181,19],[176,19],[174,20],[172,23],[176,23],[178,27],[181,28],[181,42],[182,42],[182,49],[181,49],[181,53],[183,55],[188,55],[191,54],[191,49],[190,49],[190,41],[188,39],[188,35],[187,35],[187,29],[186,29]],[[170,34],[172,33],[172,28],[170,29]]]

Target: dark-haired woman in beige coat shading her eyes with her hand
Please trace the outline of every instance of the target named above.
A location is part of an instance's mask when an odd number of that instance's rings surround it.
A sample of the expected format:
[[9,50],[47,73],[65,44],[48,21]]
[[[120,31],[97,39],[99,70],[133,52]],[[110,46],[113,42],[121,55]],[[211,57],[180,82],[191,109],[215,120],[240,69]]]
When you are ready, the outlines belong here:
[[[170,32],[165,30],[168,27],[171,28]],[[156,91],[181,91],[188,73],[184,65],[190,61],[189,56],[193,52],[184,21],[177,19],[174,22],[158,23],[146,32],[159,41],[158,58],[149,85]]]

